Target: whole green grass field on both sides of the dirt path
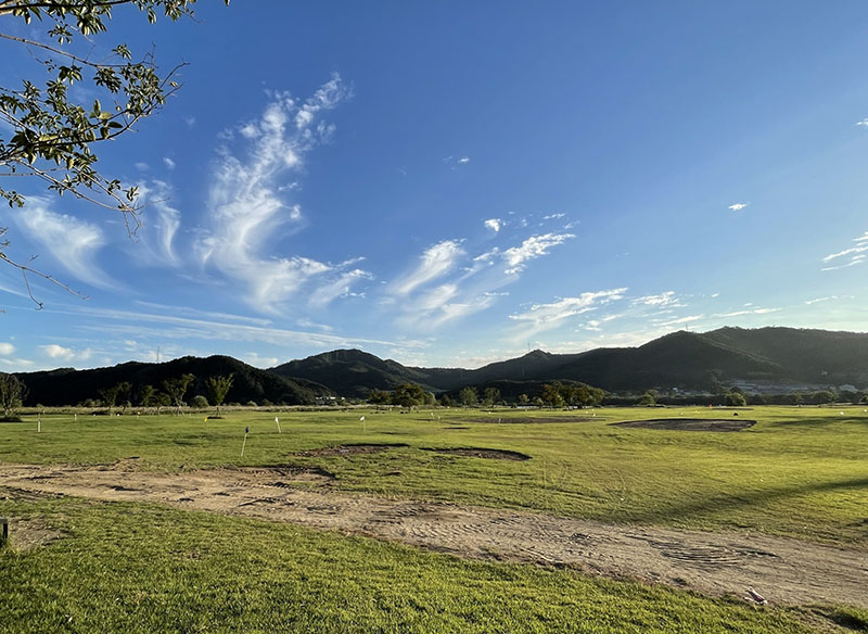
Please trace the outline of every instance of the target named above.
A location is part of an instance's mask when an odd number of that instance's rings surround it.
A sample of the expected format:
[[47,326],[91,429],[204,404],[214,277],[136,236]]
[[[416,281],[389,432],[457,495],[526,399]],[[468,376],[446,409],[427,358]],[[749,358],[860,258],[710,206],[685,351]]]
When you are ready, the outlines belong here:
[[[739,417],[757,423],[738,433],[608,424],[732,417],[706,408],[605,408],[580,422],[569,419],[591,413],[280,413],[282,433],[267,411],[207,422],[52,416],[42,418],[41,433],[27,417],[0,424],[0,461],[93,465],[138,456],[138,468],[161,471],[317,466],[345,491],[790,535],[865,549],[868,557],[868,413],[841,411],[743,409]],[[563,421],[507,422],[516,416]],[[311,452],[356,443],[398,446]],[[531,459],[427,451],[449,447]],[[0,623],[10,632],[810,632],[833,622],[868,631],[865,610],[822,608],[831,620],[809,617],[806,608],[755,610],[570,570],[470,562],[257,520],[145,504],[3,499],[2,483],[1,513],[38,517],[68,532],[47,546],[0,555]]]

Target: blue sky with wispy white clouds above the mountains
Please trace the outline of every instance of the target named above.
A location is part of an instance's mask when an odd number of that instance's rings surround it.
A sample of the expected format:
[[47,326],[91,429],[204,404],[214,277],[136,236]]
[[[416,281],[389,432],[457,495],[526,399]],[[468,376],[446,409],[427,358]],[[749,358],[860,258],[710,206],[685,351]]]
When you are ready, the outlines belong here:
[[[685,328],[868,330],[863,2],[197,14],[120,12],[94,40],[188,62],[183,88],[100,151],[142,189],[133,239],[15,183],[8,254],[89,299],[33,280],[36,310],[0,268],[0,370],[157,348],[476,367]],[[39,77],[0,55],[3,85]]]

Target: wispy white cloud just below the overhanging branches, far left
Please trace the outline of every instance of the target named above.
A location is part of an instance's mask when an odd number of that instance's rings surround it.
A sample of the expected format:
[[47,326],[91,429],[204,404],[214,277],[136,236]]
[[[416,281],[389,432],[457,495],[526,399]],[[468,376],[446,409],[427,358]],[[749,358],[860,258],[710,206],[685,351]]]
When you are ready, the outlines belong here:
[[102,230],[74,216],[49,210],[41,196],[29,196],[15,216],[21,229],[77,280],[98,288],[115,288],[100,268],[97,254],[105,245]]

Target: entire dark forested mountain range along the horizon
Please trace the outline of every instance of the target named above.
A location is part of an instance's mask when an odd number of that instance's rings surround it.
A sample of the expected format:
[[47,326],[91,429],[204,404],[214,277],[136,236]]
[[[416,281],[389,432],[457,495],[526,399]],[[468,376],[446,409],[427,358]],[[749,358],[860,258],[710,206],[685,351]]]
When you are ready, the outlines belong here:
[[477,369],[422,368],[381,359],[359,350],[335,350],[261,370],[227,356],[182,357],[163,364],[130,362],[111,368],[61,368],[18,373],[28,404],[67,405],[99,398],[101,390],[142,385],[192,373],[188,391],[205,394],[207,377],[234,376],[228,403],[305,405],[318,397],[367,397],[372,390],[419,383],[431,392],[465,385],[500,389],[509,398],[533,395],[547,381],[583,382],[610,392],[648,389],[713,392],[738,385],[745,392],[790,392],[852,385],[868,388],[868,333],[794,328],[720,328],[674,332],[638,347],[601,347],[575,354],[539,350]]

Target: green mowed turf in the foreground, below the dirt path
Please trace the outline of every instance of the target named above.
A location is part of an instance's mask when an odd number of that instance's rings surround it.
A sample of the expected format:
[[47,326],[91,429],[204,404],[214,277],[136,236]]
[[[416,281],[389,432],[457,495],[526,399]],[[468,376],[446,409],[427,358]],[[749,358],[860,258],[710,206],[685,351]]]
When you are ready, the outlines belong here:
[[153,505],[62,498],[3,506],[65,533],[41,547],[0,550],[5,634],[795,634],[868,623],[854,609],[756,609]]

